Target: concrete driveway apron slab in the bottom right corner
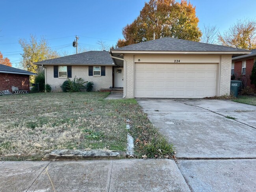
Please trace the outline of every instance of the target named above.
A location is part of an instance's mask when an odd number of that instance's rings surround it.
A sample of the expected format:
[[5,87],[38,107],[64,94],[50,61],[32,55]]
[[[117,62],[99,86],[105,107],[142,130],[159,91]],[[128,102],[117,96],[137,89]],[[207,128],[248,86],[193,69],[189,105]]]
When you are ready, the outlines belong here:
[[256,191],[256,159],[178,160],[193,192]]

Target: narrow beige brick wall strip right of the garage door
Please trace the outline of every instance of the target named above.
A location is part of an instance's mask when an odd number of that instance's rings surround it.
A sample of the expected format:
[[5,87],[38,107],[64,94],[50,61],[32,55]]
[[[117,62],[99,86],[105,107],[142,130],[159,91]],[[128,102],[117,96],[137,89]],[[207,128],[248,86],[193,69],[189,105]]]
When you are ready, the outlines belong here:
[[230,94],[232,55],[221,55],[219,96]]

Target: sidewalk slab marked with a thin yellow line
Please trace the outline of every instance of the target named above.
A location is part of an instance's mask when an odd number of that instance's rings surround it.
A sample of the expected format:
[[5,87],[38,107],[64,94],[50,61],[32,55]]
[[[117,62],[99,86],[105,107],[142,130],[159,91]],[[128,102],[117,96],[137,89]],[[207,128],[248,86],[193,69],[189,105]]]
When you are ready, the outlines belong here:
[[[113,161],[54,161],[48,166],[48,173],[56,191],[108,191]],[[28,192],[52,191],[52,185],[45,171],[33,183]]]

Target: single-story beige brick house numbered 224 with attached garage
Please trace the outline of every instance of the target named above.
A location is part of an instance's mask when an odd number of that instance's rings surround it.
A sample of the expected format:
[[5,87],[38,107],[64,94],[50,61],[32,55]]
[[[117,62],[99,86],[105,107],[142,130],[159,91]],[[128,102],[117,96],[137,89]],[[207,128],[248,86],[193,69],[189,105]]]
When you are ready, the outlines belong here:
[[123,87],[124,98],[204,98],[230,94],[232,55],[250,51],[165,37],[106,51],[35,63],[53,90],[67,78],[93,81],[94,90]]

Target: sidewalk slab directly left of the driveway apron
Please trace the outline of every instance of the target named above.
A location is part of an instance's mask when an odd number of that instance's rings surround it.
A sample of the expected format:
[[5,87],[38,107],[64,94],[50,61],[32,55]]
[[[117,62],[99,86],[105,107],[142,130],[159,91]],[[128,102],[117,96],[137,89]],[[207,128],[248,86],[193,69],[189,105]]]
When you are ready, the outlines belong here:
[[109,192],[190,192],[173,160],[125,159],[115,161]]

